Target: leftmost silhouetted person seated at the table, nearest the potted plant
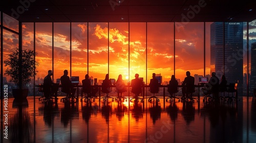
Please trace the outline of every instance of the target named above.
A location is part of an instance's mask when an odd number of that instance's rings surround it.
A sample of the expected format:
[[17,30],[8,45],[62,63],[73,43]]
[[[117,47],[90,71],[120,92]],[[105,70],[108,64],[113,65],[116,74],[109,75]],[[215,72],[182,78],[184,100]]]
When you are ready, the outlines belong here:
[[[55,83],[52,82],[52,70],[48,70],[48,75],[44,78],[44,85],[43,85],[43,91],[45,98],[49,99],[51,98],[54,91]],[[55,89],[56,90],[56,89]],[[57,94],[54,93],[55,100],[57,100]]]

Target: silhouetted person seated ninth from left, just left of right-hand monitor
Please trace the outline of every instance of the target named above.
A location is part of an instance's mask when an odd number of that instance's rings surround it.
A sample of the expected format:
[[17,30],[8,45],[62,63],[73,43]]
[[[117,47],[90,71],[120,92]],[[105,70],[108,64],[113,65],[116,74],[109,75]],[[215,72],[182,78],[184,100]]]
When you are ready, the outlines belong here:
[[185,98],[192,98],[192,93],[195,92],[195,78],[190,76],[190,72],[186,71],[186,76],[183,83],[182,83],[182,99]]

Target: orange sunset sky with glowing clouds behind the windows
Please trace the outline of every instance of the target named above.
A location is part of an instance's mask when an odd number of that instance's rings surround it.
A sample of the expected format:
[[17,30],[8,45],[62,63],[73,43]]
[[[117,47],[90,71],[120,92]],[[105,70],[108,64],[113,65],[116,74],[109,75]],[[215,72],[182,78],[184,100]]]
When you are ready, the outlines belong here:
[[[205,25],[205,75],[210,74],[210,24]],[[17,47],[18,36],[4,30],[3,38],[5,59]],[[187,70],[192,76],[204,75],[203,22],[35,23],[35,41],[34,23],[23,23],[23,49],[33,50],[34,42],[36,79],[44,78],[49,69],[54,70],[54,79],[68,69],[69,76],[79,76],[80,81],[86,74],[103,80],[108,72],[110,78],[121,74],[124,80],[138,73],[147,83],[152,73],[161,74],[163,82],[174,72],[181,81]]]

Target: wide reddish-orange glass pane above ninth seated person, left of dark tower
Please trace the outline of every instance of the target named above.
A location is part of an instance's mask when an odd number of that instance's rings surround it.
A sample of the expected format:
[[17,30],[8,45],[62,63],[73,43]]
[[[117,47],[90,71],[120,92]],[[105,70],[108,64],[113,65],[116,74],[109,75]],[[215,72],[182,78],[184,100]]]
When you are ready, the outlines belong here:
[[175,31],[176,78],[183,81],[190,71],[198,84],[198,77],[204,75],[204,23],[176,23]]

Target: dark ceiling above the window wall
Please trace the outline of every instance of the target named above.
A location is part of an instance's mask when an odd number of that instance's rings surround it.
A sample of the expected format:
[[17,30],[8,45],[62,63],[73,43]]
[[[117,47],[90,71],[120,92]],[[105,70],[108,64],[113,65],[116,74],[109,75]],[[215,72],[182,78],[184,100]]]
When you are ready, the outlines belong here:
[[8,0],[0,11],[22,22],[215,22],[256,19],[256,1]]

